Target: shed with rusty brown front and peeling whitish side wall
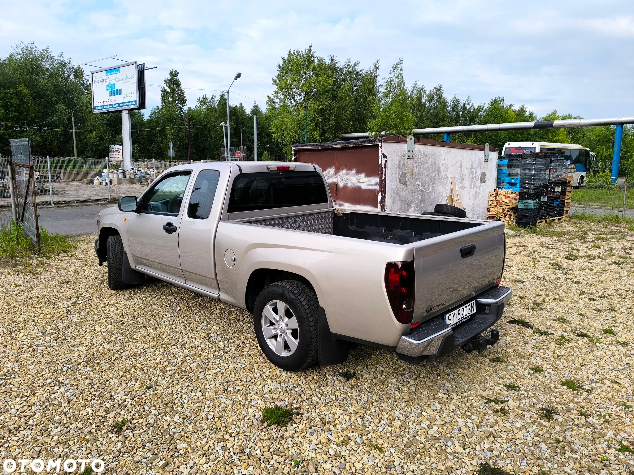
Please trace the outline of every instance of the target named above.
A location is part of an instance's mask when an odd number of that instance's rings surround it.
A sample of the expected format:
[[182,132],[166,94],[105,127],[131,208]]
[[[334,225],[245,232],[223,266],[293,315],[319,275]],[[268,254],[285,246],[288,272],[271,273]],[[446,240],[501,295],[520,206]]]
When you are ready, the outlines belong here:
[[323,170],[335,206],[419,214],[446,203],[455,177],[467,215],[486,218],[488,193],[496,187],[498,149],[489,159],[484,146],[415,139],[407,158],[407,138],[383,136],[321,144],[294,144],[295,162]]

